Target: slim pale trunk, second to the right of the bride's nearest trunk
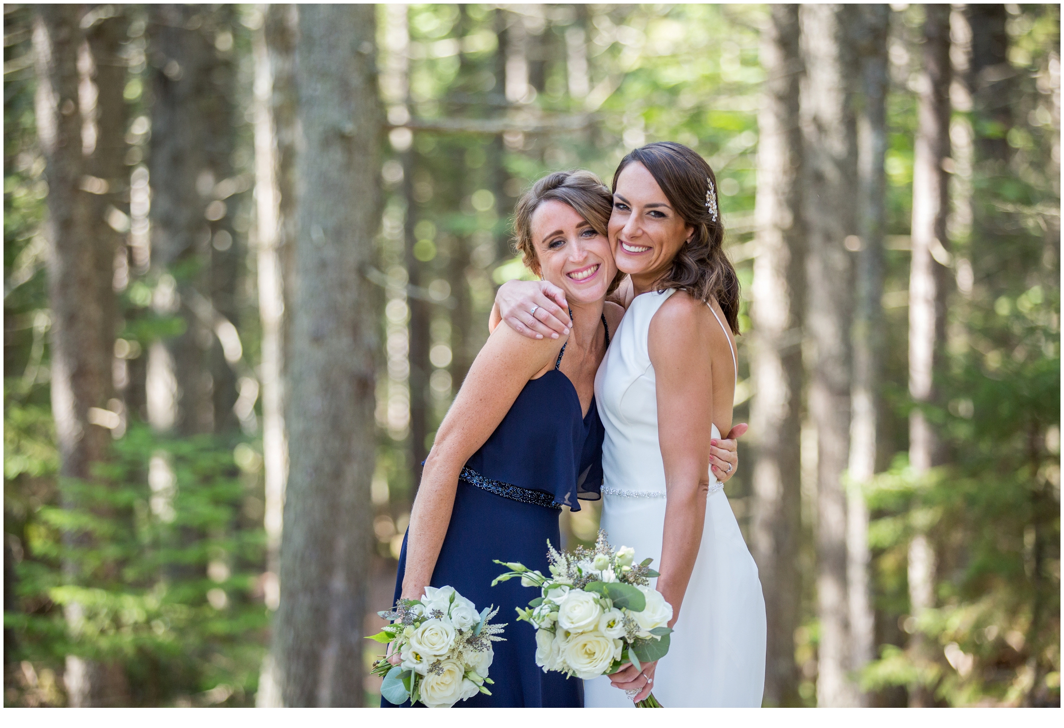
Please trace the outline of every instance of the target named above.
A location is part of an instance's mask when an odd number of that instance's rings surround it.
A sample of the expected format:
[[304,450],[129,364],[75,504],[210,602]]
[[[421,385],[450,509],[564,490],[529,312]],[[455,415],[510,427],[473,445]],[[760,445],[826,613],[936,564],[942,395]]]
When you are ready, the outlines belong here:
[[[891,7],[861,5],[854,24],[862,98],[858,114],[857,301],[853,316],[853,399],[847,492],[847,590],[850,670],[875,658],[876,622],[869,587],[868,506],[863,486],[876,473],[878,392],[883,358],[883,233],[886,215],[886,37]],[[868,696],[861,696],[868,705]]]

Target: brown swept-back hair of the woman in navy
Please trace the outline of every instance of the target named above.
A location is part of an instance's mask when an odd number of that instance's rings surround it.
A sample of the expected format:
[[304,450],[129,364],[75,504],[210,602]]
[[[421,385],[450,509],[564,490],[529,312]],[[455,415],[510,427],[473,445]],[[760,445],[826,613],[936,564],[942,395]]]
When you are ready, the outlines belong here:
[[[532,215],[548,200],[564,202],[586,220],[596,233],[603,237],[610,235],[613,194],[605,183],[585,169],[551,172],[526,190],[514,208],[514,243],[529,270],[535,270],[539,265],[532,241]],[[610,284],[609,292],[612,293],[624,277],[625,274],[618,271]]]

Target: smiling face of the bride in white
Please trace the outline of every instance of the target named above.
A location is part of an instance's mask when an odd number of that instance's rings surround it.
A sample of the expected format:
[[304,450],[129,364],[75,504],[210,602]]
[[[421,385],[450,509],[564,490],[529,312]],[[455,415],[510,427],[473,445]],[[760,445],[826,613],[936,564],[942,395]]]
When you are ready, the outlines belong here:
[[616,248],[617,268],[653,283],[672,265],[672,258],[694,228],[677,215],[650,171],[633,162],[620,171],[610,215],[610,242]]

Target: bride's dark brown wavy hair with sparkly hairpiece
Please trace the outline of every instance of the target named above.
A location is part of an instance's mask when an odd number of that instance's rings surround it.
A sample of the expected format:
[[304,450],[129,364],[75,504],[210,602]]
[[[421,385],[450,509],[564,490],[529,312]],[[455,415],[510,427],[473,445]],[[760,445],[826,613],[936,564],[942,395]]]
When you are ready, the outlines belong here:
[[713,169],[689,147],[655,141],[632,150],[620,160],[613,174],[614,190],[621,170],[633,162],[647,168],[677,215],[695,231],[672,259],[672,269],[658,283],[658,290],[679,288],[706,303],[716,299],[732,333],[738,334],[738,275],[725,255],[720,214],[716,209],[711,213],[706,205],[710,184],[716,197]]

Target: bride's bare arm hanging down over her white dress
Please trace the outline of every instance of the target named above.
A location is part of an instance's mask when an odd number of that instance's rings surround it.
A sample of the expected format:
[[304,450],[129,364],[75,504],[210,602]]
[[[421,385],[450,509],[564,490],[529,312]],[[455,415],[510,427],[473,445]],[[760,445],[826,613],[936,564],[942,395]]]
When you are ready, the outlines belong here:
[[674,294],[650,323],[648,350],[665,465],[665,527],[658,591],[680,615],[702,541],[713,426],[712,317],[701,301]]

